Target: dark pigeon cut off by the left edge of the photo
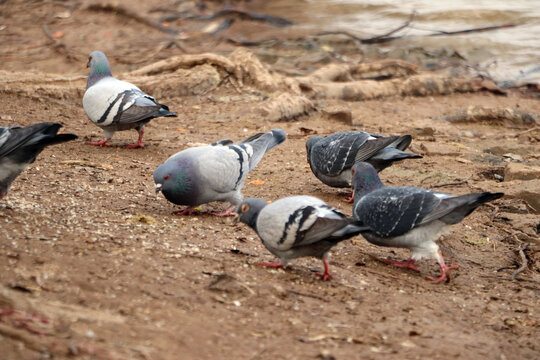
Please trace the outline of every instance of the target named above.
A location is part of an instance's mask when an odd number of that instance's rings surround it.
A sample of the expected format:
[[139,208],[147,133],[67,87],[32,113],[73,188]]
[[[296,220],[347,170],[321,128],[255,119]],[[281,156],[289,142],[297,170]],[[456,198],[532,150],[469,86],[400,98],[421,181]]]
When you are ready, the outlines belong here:
[[61,127],[61,124],[54,123],[0,127],[0,199],[6,196],[13,180],[36,160],[46,146],[77,138],[75,134],[58,134]]

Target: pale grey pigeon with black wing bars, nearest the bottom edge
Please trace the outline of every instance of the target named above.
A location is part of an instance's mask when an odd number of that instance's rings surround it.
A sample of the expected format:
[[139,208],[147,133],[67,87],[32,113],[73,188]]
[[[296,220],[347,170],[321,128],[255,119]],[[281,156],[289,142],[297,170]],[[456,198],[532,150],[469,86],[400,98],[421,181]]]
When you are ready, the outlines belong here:
[[283,268],[292,259],[313,256],[324,263],[324,273],[317,273],[323,280],[331,278],[328,251],[366,229],[312,196],[291,196],[271,204],[250,198],[244,200],[236,212],[235,222],[249,225],[268,251],[279,258],[279,262],[259,265]]

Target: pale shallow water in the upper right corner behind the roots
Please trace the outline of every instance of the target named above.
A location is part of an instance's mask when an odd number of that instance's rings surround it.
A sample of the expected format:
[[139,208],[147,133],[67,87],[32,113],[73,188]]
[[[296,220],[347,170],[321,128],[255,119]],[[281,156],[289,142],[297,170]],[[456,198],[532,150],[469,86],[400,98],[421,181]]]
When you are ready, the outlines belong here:
[[[316,30],[348,30],[365,37],[388,32],[417,15],[411,28],[397,35],[425,35],[502,24],[515,28],[454,36],[414,36],[385,45],[420,46],[430,51],[453,49],[468,61],[487,67],[496,80],[508,80],[540,66],[538,0],[273,0],[263,12],[285,16]],[[489,66],[488,66],[489,65]],[[528,76],[540,82],[540,69]]]

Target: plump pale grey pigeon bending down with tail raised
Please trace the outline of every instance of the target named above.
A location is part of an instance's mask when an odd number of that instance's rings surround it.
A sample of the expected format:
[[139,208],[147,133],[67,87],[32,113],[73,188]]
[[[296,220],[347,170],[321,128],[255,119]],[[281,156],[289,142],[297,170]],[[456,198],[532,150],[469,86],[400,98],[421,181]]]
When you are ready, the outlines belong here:
[[226,139],[180,151],[154,171],[156,192],[161,191],[174,204],[188,206],[175,214],[190,215],[195,206],[228,201],[232,206],[215,215],[234,215],[232,210],[242,201],[240,191],[247,174],[285,138],[283,130],[274,129],[236,144]]

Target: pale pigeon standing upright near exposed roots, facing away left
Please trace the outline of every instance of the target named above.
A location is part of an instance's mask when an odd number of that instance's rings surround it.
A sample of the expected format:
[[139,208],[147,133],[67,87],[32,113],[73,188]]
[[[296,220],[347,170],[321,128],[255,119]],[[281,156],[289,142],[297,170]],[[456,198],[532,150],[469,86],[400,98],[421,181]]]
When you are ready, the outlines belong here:
[[86,67],[90,68],[90,74],[83,97],[84,111],[105,132],[104,140],[88,144],[109,146],[107,141],[116,131],[135,129],[139,132],[139,141],[127,147],[142,148],[146,123],[156,117],[176,116],[135,85],[114,78],[109,61],[101,51],[90,54]]

